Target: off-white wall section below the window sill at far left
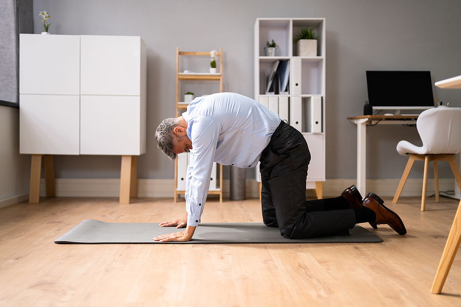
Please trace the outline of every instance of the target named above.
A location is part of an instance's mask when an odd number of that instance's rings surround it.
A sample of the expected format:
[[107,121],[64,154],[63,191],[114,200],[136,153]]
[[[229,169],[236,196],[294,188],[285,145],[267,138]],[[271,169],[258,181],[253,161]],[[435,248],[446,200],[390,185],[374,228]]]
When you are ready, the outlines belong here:
[[19,155],[19,109],[0,105],[0,207],[28,199],[30,156]]

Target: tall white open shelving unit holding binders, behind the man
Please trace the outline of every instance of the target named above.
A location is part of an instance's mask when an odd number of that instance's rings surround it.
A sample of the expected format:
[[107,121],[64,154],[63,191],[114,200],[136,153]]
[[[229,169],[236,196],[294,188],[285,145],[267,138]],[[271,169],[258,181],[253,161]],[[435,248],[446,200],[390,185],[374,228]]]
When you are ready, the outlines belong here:
[[[317,56],[298,56],[295,36],[302,28],[315,28]],[[279,46],[276,56],[265,56],[266,42]],[[322,198],[325,181],[325,18],[257,18],[255,23],[255,100],[304,135],[311,160],[307,189]],[[289,93],[266,94],[270,69],[277,60],[289,60]],[[257,167],[259,180],[259,169]]]

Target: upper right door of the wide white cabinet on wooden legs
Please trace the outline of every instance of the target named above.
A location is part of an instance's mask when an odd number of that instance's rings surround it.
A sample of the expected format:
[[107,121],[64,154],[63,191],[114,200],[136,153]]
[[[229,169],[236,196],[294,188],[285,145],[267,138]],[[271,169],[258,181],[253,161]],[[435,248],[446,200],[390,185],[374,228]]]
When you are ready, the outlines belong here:
[[141,45],[139,36],[81,35],[81,94],[141,95]]

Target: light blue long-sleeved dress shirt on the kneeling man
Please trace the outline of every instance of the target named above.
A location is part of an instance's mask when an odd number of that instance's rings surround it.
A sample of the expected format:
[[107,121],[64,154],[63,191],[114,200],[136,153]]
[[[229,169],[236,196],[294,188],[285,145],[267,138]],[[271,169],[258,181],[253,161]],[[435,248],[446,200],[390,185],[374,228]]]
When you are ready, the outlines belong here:
[[197,97],[182,115],[193,148],[186,178],[187,225],[197,226],[213,162],[256,166],[281,119],[256,100],[234,93]]

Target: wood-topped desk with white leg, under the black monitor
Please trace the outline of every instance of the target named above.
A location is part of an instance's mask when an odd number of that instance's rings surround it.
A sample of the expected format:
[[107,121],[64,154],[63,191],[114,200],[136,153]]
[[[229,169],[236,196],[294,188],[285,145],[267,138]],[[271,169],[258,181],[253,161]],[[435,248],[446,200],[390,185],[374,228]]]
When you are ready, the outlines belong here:
[[367,126],[416,124],[417,118],[417,115],[364,115],[347,118],[357,125],[357,188],[362,195],[366,195],[367,190]]

